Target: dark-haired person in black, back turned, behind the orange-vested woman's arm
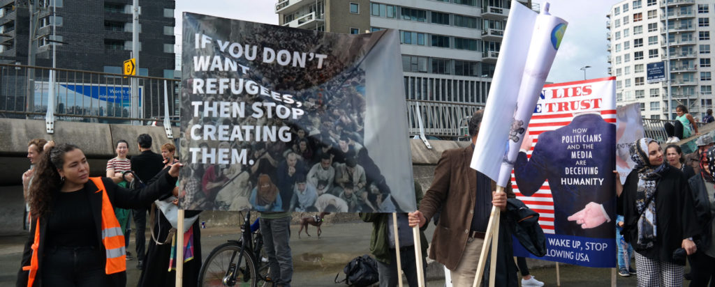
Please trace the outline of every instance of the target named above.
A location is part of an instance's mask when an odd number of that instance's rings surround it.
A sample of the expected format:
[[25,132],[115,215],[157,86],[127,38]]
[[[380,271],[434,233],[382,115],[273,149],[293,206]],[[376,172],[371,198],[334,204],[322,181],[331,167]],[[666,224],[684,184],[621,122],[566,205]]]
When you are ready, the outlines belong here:
[[[152,151],[152,136],[148,134],[140,134],[137,137],[137,146],[139,146],[139,155],[132,156],[132,171],[137,173],[142,182],[147,182],[149,179],[159,173],[164,168],[164,158],[159,153]],[[137,251],[137,269],[141,269],[144,264],[144,256],[146,256],[145,248],[147,237],[144,232],[147,229],[147,208],[137,208],[132,210],[132,218],[134,218],[134,226],[137,226],[137,231],[134,233],[136,240],[135,244]]]

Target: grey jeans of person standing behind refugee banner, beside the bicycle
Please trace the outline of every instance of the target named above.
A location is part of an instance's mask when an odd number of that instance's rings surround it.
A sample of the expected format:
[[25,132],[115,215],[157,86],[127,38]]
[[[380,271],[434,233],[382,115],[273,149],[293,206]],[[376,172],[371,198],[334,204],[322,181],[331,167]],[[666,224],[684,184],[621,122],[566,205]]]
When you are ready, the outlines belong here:
[[293,278],[293,258],[290,254],[290,216],[277,219],[260,218],[263,250],[268,256],[270,278],[276,285],[290,286]]

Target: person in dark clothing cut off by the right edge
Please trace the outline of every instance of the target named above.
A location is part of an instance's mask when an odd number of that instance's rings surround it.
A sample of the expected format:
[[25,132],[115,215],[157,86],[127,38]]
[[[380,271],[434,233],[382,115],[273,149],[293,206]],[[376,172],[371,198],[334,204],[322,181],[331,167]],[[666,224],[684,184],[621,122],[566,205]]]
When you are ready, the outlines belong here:
[[700,174],[690,178],[690,188],[693,191],[696,226],[701,231],[693,236],[697,252],[688,256],[691,266],[690,286],[707,286],[708,281],[715,284],[715,147],[702,153]]

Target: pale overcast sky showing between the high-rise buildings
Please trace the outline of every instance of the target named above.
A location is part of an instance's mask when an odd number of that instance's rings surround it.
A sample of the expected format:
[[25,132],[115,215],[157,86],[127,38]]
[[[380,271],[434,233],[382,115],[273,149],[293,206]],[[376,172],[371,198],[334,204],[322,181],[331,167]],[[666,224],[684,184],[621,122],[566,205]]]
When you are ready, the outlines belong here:
[[[532,0],[544,7],[543,0]],[[622,0],[551,0],[552,15],[568,21],[566,34],[553,61],[547,81],[561,83],[564,81],[583,80],[583,66],[591,66],[586,70],[588,79],[608,76],[606,57],[606,14],[613,4]],[[182,12],[209,14],[225,18],[254,21],[267,24],[278,24],[275,14],[276,1],[260,0],[177,0],[176,1],[176,33],[182,31]],[[177,44],[181,37],[177,35]],[[178,49],[178,47],[177,47]],[[177,51],[180,52],[180,51]]]

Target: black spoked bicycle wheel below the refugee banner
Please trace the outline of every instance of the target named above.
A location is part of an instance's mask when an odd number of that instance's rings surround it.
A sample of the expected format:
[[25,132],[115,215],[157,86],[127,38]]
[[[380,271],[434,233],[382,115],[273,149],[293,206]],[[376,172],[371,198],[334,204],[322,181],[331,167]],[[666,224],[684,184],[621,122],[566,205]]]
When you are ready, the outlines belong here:
[[[237,242],[227,242],[214,248],[201,266],[199,286],[242,286],[257,287],[255,260],[250,252],[243,251],[238,261],[241,246]],[[233,261],[232,261],[233,258]],[[231,280],[236,274],[235,281]]]

